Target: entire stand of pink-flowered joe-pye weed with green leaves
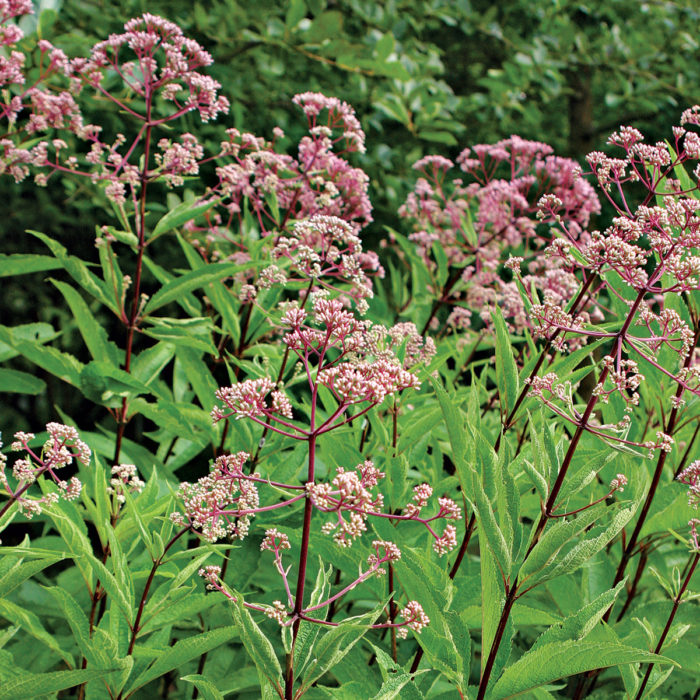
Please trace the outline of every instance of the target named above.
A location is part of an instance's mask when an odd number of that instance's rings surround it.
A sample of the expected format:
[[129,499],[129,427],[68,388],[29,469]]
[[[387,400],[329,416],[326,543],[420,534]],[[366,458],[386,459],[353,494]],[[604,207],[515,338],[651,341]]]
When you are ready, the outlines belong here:
[[3,453],[0,697],[693,697],[700,109],[427,156],[380,256],[349,105],[261,138],[174,23],[69,58],[30,11],[3,173],[104,224],[0,258],[71,319],[0,326],[55,413]]

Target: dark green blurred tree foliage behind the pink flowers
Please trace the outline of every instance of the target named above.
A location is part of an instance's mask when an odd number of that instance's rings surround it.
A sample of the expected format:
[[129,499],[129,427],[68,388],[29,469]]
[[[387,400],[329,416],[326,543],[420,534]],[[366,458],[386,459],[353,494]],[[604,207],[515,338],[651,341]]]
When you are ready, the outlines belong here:
[[[515,133],[581,159],[631,122],[664,138],[696,100],[700,77],[694,0],[42,0],[22,22],[72,56],[145,11],[177,22],[213,55],[211,74],[232,109],[204,127],[192,120],[202,140],[216,143],[225,122],[266,136],[281,126],[293,142],[303,123],[291,98],[305,90],[353,105],[367,133],[357,163],[372,183],[370,246],[385,225],[401,225],[396,211],[421,156],[455,156]],[[81,187],[1,178],[0,252],[38,251],[27,229],[90,246],[105,202],[78,196]],[[5,280],[4,322],[56,320],[63,311],[40,298],[45,289]],[[0,409],[8,430],[25,421],[17,408],[29,404]]]

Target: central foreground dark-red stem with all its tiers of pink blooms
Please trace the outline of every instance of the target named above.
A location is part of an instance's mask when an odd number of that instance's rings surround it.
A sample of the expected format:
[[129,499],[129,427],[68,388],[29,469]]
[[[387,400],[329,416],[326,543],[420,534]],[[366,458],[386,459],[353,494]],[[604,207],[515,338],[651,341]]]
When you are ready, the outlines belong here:
[[[287,605],[274,601],[272,607],[253,607],[291,628],[292,649],[287,655],[285,668],[285,697],[294,697],[294,645],[302,621],[324,625],[337,623],[319,619],[315,613],[334,606],[342,597],[368,578],[385,573],[382,565],[391,566],[400,558],[398,547],[392,542],[375,541],[374,554],[368,558],[369,568],[325,601],[311,607],[306,604],[305,589],[308,576],[309,552],[314,512],[330,516],[321,528],[332,535],[341,547],[350,547],[367,530],[368,518],[386,518],[394,522],[420,523],[433,540],[433,549],[443,555],[456,546],[456,529],[445,525],[436,529],[438,521],[461,518],[461,509],[449,498],[437,499],[437,510],[425,514],[433,495],[428,484],[414,489],[411,501],[398,513],[383,512],[383,497],[376,492],[384,477],[371,460],[357,465],[354,470],[338,467],[330,482],[318,482],[316,455],[318,439],[339,427],[351,424],[385,399],[398,392],[417,388],[416,376],[404,368],[395,355],[399,347],[403,362],[410,366],[430,357],[432,346],[425,344],[412,324],[399,324],[389,329],[362,321],[346,310],[342,301],[331,299],[326,293],[312,295],[311,309],[306,311],[299,303],[284,305],[281,324],[287,329],[284,343],[301,366],[297,382],[309,392],[309,413],[304,421],[293,408],[288,389],[261,377],[223,387],[217,391],[221,405],[212,410],[214,421],[245,418],[288,440],[306,443],[307,468],[302,484],[282,484],[268,481],[257,472],[246,474],[246,453],[222,455],[217,458],[209,476],[196,484],[182,484],[180,497],[184,514],[176,513],[176,524],[201,532],[209,541],[226,535],[242,538],[258,514],[286,508],[304,501],[303,526],[299,543],[296,584],[290,585],[289,569],[282,560],[283,550],[289,548],[284,533],[277,529],[267,531],[261,546],[274,555],[274,565],[282,579]],[[321,411],[318,394],[325,387],[334,397],[335,408],[324,406]],[[289,496],[270,505],[260,504],[258,485],[269,484]],[[209,572],[210,586],[225,591],[216,577]],[[231,597],[229,595],[229,597]],[[254,604],[251,604],[254,605]],[[427,624],[417,602],[410,602],[401,612],[402,622],[395,621],[398,609],[389,622],[373,625],[376,629],[389,628],[403,633],[407,628],[419,631]]]

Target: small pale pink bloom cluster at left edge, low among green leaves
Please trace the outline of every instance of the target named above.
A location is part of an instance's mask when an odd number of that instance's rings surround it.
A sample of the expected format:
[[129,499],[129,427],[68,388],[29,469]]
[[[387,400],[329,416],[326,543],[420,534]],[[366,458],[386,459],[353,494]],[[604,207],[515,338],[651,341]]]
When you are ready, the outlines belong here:
[[[0,453],[0,486],[8,493],[10,502],[17,503],[19,511],[27,518],[38,515],[43,504],[55,503],[59,497],[67,501],[78,498],[82,490],[82,483],[78,477],[74,476],[65,481],[56,474],[56,470],[71,465],[73,460],[82,464],[90,462],[90,448],[80,439],[75,428],[61,423],[48,423],[46,432],[49,438],[38,453],[29,446],[36,437],[33,433],[15,433],[11,449],[25,451],[27,456],[16,460],[12,467],[14,488],[5,473],[7,457]],[[38,499],[24,497],[27,489],[42,474],[51,477],[58,491],[47,493]]]

